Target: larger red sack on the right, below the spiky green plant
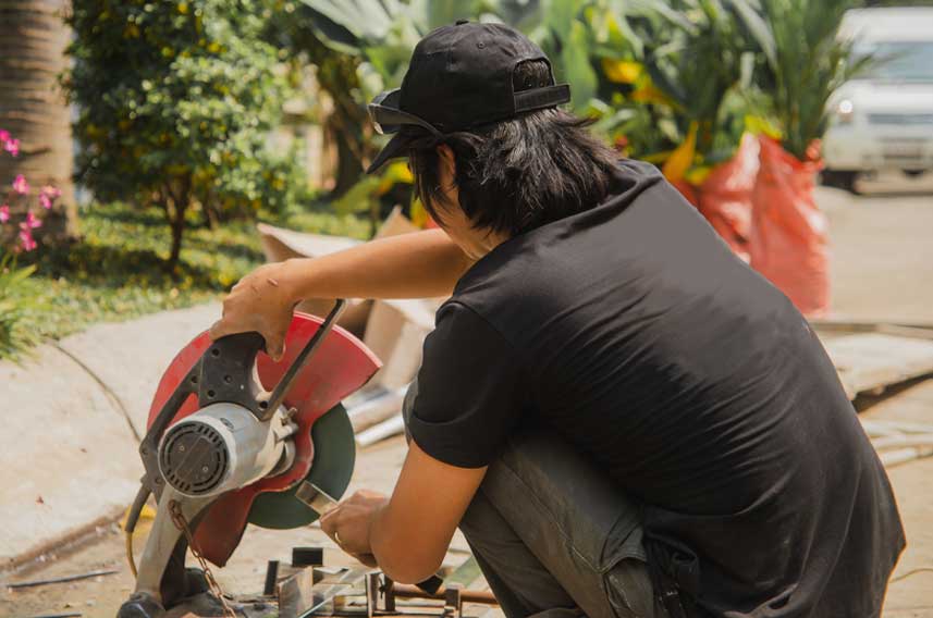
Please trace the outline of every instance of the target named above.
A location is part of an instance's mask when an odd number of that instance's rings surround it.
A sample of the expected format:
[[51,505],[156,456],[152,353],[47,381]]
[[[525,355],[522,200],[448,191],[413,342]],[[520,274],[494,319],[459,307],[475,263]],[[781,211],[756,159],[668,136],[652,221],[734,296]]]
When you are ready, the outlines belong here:
[[752,198],[751,267],[808,317],[830,308],[826,218],[813,200],[819,160],[800,161],[762,136]]

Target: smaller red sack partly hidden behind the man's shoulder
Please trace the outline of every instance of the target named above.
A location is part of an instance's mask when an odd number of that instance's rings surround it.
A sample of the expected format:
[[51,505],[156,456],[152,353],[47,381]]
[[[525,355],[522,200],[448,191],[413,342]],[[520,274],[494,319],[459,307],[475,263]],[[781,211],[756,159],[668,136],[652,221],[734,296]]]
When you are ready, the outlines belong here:
[[713,230],[746,262],[749,261],[751,195],[758,168],[758,141],[746,134],[735,156],[713,168],[697,187],[697,201],[693,202]]

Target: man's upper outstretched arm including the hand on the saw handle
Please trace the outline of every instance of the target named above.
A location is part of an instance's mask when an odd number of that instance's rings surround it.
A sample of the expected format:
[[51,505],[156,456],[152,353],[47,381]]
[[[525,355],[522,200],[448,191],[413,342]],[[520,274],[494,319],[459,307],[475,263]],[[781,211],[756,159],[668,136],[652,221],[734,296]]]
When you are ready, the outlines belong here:
[[428,298],[451,294],[470,267],[441,230],[381,238],[314,259],[266,264],[233,286],[212,338],[256,331],[278,359],[292,311],[306,298]]

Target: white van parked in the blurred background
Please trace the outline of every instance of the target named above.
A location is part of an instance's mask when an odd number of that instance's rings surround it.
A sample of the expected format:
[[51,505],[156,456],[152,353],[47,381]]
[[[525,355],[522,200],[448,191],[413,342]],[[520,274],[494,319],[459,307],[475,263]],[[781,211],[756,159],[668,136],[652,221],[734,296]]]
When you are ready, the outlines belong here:
[[933,170],[933,8],[856,9],[839,36],[877,63],[830,100],[824,184],[855,191],[859,174]]

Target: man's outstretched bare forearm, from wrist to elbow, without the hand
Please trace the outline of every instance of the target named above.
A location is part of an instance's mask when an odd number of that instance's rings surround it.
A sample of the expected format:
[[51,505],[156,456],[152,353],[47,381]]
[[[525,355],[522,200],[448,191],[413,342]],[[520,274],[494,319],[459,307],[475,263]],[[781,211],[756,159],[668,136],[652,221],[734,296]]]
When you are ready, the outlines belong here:
[[306,298],[447,296],[470,261],[441,230],[372,240],[321,258],[292,259],[281,284]]

